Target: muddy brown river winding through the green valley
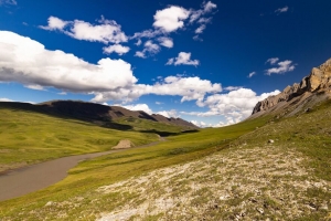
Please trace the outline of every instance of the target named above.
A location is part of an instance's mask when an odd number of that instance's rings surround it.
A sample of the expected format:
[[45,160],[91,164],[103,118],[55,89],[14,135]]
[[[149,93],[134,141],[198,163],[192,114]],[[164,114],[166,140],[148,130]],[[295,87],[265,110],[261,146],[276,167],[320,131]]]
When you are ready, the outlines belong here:
[[[160,141],[163,140],[164,139],[160,138]],[[160,141],[154,141],[134,148],[149,147],[151,145],[157,145]],[[79,161],[125,151],[127,148],[130,148],[130,140],[120,140],[117,146],[113,147],[113,149],[108,151],[63,157],[38,165],[18,168],[0,175],[0,201],[21,197],[23,194],[46,188],[64,179],[67,176],[67,171],[75,167]]]

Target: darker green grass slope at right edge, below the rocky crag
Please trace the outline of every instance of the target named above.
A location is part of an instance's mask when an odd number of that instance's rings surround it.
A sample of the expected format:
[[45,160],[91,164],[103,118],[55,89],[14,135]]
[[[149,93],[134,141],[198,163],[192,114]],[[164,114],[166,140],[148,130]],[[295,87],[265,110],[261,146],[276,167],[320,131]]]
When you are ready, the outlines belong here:
[[302,110],[293,117],[275,117],[269,124],[246,134],[235,144],[265,146],[269,139],[274,140],[273,146],[305,154],[310,159],[307,167],[314,170],[317,177],[331,181],[331,101],[312,107],[310,112]]

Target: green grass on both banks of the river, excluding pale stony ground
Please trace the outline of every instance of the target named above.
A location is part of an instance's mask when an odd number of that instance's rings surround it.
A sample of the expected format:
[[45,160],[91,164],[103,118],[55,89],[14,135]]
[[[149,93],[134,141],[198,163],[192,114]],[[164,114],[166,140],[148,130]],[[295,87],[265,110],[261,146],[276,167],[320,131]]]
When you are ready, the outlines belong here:
[[[269,139],[280,149],[295,149],[310,160],[306,162],[318,178],[331,181],[331,103],[310,113],[277,119],[259,117],[222,127],[181,133],[181,128],[143,119],[122,118],[117,124],[130,130],[115,130],[97,125],[47,116],[34,112],[0,108],[0,151],[2,165],[33,164],[68,155],[104,151],[120,139],[136,146],[158,140],[157,133],[168,135],[158,145],[128,149],[81,162],[68,176],[46,189],[0,202],[0,220],[95,220],[99,213],[120,206],[117,194],[103,196],[96,189],[172,165],[201,159],[236,148],[267,146]],[[273,146],[271,146],[273,147]],[[268,145],[266,148],[270,148]],[[3,157],[2,157],[3,156]],[[322,192],[312,191],[320,196]],[[330,196],[320,196],[321,199]],[[127,194],[127,200],[139,200]],[[65,202],[79,201],[79,207]],[[47,202],[63,202],[50,209]],[[61,213],[65,211],[65,217]]]

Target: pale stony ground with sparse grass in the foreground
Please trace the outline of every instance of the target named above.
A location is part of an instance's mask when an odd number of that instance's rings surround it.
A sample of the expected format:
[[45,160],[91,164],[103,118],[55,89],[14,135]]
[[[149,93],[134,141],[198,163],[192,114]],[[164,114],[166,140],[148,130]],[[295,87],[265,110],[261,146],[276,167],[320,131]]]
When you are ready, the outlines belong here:
[[[78,219],[330,220],[331,182],[314,177],[305,167],[307,160],[293,149],[244,144],[100,187],[90,210],[82,211]],[[77,208],[82,200],[49,202],[30,214],[47,211],[66,219],[63,209]],[[108,212],[98,211],[99,203],[107,204]]]

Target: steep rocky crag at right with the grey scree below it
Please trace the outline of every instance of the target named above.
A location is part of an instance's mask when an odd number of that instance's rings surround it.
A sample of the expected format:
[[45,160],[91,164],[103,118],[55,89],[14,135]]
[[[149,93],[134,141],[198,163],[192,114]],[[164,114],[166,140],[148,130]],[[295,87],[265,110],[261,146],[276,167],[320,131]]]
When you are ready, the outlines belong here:
[[313,67],[310,75],[298,84],[287,86],[280,94],[269,96],[258,102],[253,109],[253,116],[274,113],[281,116],[292,116],[302,110],[309,110],[317,103],[331,97],[331,59],[319,67]]

